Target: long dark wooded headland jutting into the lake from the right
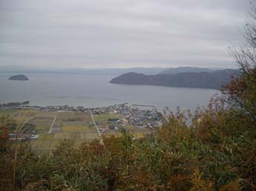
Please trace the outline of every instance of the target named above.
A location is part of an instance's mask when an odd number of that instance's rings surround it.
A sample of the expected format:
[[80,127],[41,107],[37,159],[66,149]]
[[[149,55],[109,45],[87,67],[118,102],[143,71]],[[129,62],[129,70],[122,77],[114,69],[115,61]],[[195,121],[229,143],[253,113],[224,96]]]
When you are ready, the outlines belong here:
[[181,72],[156,75],[129,72],[113,78],[110,83],[220,89],[223,83],[229,82],[231,75],[238,76],[240,71],[224,69],[216,70],[215,72]]

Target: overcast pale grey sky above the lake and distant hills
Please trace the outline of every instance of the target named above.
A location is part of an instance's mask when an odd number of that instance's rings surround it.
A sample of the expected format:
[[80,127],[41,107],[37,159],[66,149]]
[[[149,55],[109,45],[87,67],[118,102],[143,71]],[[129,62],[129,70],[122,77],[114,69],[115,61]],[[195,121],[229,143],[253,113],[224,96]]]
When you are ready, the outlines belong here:
[[249,2],[0,0],[0,66],[234,67]]

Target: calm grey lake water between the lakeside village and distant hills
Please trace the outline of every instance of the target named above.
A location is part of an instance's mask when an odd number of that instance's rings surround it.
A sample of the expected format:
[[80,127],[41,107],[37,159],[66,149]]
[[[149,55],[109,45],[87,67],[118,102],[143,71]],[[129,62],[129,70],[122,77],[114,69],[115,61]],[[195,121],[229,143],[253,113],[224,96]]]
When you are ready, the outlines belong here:
[[0,103],[30,101],[30,105],[73,105],[87,108],[119,103],[195,109],[207,105],[214,89],[130,86],[109,83],[115,76],[80,74],[26,74],[28,81],[7,80],[0,74]]

